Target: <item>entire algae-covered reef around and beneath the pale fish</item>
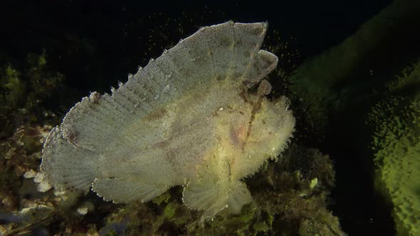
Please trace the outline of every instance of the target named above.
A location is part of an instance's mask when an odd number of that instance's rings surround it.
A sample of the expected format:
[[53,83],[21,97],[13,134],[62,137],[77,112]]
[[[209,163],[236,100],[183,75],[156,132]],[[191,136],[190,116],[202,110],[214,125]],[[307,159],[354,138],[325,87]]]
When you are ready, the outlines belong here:
[[288,70],[280,60],[269,78],[285,84],[273,81],[274,97],[291,99],[293,139],[243,180],[253,200],[241,213],[225,209],[203,227],[179,186],[132,204],[50,186],[41,150],[80,94],[51,70],[48,53],[3,63],[0,235],[418,235],[419,9],[418,1],[394,1],[302,65]]

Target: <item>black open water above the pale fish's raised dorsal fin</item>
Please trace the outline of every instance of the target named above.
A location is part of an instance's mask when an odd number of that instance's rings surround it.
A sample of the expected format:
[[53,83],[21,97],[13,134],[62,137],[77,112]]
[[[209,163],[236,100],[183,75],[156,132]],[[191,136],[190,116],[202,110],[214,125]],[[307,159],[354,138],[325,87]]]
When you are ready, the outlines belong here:
[[[187,15],[184,32],[168,27],[155,37],[157,45],[169,47],[200,26],[231,19],[268,21],[269,31],[295,36],[305,59],[341,43],[390,2],[1,1],[0,53],[2,60],[19,61],[28,52],[46,50],[51,67],[85,95],[93,88],[108,90],[117,80],[125,81],[127,73],[135,73],[140,62],[146,65],[142,60],[161,55],[157,47],[148,52],[147,38],[148,30],[158,28],[165,18]],[[164,16],[149,19],[156,12]]]

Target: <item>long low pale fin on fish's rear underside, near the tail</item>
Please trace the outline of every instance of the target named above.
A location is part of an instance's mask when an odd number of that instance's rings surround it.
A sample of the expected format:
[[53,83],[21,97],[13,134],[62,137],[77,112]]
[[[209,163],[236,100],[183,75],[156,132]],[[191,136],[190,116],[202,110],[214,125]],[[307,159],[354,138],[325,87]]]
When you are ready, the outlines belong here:
[[167,191],[171,186],[163,183],[142,183],[127,178],[96,178],[92,190],[114,203],[147,202]]

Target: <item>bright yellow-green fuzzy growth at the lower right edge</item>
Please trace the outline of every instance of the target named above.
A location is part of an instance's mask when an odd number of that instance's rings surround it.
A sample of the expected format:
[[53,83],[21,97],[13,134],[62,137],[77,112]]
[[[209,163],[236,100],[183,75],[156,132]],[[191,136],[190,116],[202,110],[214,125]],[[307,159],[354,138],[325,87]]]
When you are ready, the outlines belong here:
[[375,181],[393,208],[398,235],[420,234],[420,61],[373,107]]

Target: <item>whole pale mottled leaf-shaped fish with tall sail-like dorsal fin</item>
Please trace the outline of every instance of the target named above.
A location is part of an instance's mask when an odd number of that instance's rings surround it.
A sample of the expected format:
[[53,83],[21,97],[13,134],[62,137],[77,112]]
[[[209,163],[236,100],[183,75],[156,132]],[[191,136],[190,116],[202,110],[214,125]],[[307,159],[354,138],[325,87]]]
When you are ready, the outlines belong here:
[[[263,80],[278,58],[260,50],[267,23],[200,28],[112,95],[93,92],[48,135],[41,170],[56,188],[143,202],[172,186],[201,222],[251,201],[242,178],[280,154],[295,119]],[[257,92],[249,92],[258,86]]]

